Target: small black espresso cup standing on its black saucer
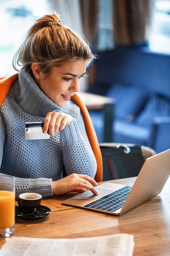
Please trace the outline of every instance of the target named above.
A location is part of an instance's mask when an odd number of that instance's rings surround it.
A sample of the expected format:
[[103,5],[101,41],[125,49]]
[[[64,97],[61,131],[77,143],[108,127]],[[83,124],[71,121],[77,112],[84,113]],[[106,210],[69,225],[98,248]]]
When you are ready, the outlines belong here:
[[42,195],[38,193],[22,193],[18,198],[20,211],[24,214],[37,213],[40,209]]

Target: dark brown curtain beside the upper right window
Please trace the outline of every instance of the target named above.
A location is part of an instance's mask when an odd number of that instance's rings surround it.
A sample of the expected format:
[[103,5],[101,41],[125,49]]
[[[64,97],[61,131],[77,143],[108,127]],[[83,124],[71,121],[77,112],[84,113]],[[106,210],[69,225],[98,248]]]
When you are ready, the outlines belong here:
[[148,41],[155,0],[113,0],[114,38],[117,45]]

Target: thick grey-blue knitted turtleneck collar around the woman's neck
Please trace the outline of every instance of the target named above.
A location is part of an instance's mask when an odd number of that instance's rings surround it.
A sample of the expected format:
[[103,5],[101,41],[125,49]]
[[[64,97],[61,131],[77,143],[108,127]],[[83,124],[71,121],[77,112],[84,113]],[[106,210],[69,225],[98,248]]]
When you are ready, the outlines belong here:
[[20,108],[31,115],[46,116],[48,112],[61,110],[61,107],[40,90],[31,74],[24,68],[20,69],[19,81],[15,82],[15,97]]

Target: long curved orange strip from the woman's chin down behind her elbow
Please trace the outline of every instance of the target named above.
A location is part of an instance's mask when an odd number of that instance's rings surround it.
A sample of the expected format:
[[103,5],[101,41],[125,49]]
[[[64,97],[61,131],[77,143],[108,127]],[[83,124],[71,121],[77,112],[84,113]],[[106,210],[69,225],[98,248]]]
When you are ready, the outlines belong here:
[[95,180],[97,182],[101,182],[103,179],[103,163],[102,163],[102,154],[101,154],[101,150],[99,147],[99,142],[97,139],[97,135],[95,133],[95,129],[93,127],[93,123],[91,121],[91,117],[88,113],[88,110],[86,108],[86,105],[84,103],[84,101],[82,101],[82,99],[80,99],[80,97],[75,93],[72,97],[73,101],[75,101],[75,103],[77,103],[77,105],[79,106],[79,108],[82,111],[83,117],[84,117],[84,121],[85,121],[85,126],[86,126],[86,132],[88,135],[88,139],[90,141],[93,153],[95,154],[95,158],[97,161],[97,172],[95,175]]

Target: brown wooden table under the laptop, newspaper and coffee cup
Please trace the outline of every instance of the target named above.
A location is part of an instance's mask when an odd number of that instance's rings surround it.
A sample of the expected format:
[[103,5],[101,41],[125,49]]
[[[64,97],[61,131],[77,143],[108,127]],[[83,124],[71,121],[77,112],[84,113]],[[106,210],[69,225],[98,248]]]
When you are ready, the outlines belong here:
[[[134,181],[135,177],[110,182],[132,185]],[[170,178],[159,196],[120,217],[62,204],[72,195],[42,199],[51,214],[39,222],[16,221],[15,236],[78,238],[127,233],[134,235],[133,256],[170,255]],[[0,238],[0,247],[4,242]]]

